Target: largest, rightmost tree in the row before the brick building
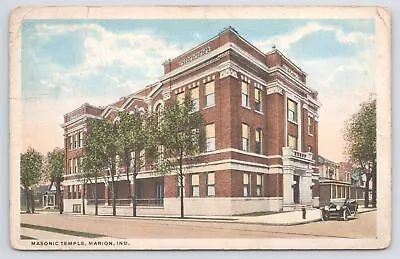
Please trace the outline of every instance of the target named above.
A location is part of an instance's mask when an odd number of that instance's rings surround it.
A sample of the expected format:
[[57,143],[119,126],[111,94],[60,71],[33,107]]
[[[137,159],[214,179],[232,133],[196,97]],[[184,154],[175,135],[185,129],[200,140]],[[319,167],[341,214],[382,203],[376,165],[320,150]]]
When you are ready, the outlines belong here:
[[159,158],[155,162],[157,174],[175,174],[179,185],[181,218],[184,217],[184,176],[199,161],[205,141],[200,129],[204,120],[194,111],[193,102],[186,99],[182,104],[172,103],[165,107],[158,131]]

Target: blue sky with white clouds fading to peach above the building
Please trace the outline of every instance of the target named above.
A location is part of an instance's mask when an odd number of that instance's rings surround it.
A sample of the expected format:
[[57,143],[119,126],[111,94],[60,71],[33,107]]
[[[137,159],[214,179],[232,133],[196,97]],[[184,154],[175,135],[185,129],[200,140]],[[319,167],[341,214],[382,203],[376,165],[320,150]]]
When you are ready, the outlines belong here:
[[[373,20],[25,20],[23,146],[42,152],[61,146],[64,113],[83,102],[105,105],[156,82],[164,60],[227,26],[262,51],[276,45],[307,72],[308,85],[319,91],[323,104],[320,150],[327,154],[322,155],[342,159],[343,147],[325,148],[329,141],[323,137],[332,136],[334,128],[339,138],[343,121],[374,91]],[[333,118],[337,112],[343,117]],[[43,130],[56,141],[28,140]]]

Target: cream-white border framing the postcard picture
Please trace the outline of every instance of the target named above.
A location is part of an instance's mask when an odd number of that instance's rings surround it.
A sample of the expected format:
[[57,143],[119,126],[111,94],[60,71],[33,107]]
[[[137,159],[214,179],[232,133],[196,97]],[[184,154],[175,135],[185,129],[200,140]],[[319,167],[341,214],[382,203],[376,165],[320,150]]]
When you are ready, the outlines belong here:
[[[10,239],[24,250],[78,249],[80,247],[32,247],[20,240],[19,154],[21,147],[21,23],[24,19],[374,19],[377,86],[377,238],[366,239],[130,239],[123,250],[171,249],[381,249],[391,240],[391,21],[381,7],[349,6],[115,6],[21,7],[10,16]],[[328,15],[329,14],[329,15]],[[384,220],[380,220],[384,219]],[[379,222],[378,222],[379,221]],[[285,240],[285,242],[282,242]],[[99,247],[96,250],[110,249]],[[112,250],[119,248],[113,247]],[[93,248],[91,248],[93,250]]]

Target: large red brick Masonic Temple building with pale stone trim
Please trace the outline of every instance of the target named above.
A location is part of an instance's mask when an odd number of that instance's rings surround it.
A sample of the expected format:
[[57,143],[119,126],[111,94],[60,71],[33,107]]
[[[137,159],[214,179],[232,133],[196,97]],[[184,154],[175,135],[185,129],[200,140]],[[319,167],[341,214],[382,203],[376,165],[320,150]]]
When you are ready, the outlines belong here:
[[[116,111],[158,110],[191,96],[205,120],[205,164],[185,176],[186,215],[234,215],[293,210],[319,200],[317,92],[306,73],[272,49],[263,53],[229,27],[167,60],[159,82],[105,107],[83,104],[64,116],[65,210],[79,211],[76,179],[87,118],[114,119]],[[118,214],[130,213],[124,174],[118,178]],[[138,174],[138,213],[179,213],[176,177]],[[108,179],[99,180],[101,209],[110,210]],[[91,208],[89,188],[88,210]]]

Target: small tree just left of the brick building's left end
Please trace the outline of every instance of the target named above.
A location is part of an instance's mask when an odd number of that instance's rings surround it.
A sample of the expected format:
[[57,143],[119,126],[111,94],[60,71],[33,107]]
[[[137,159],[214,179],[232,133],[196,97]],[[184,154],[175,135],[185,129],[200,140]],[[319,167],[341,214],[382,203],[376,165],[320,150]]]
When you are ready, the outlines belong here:
[[64,179],[65,153],[61,148],[55,148],[47,153],[45,171],[47,179],[50,180],[50,187],[55,184],[56,198],[60,214],[63,213],[63,200],[61,195],[61,183]]

